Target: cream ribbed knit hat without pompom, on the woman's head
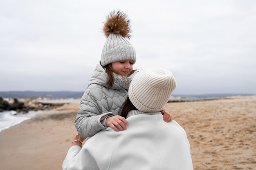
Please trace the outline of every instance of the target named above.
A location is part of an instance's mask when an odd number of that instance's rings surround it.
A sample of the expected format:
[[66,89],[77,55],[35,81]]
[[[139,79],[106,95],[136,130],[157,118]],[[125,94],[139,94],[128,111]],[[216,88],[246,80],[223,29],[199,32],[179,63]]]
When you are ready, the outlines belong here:
[[176,81],[169,70],[147,68],[132,79],[128,96],[139,111],[158,112],[168,102],[175,88]]

